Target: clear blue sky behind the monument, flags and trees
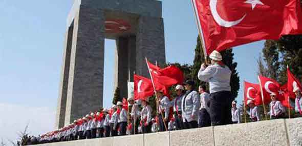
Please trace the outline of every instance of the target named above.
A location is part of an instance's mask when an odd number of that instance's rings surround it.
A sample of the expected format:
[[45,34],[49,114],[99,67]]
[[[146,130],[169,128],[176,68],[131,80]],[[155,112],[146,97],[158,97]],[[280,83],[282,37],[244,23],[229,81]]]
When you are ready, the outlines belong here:
[[[0,103],[47,107],[55,113],[71,6],[71,0],[0,1]],[[163,18],[166,61],[192,64],[198,31],[190,1],[163,1]],[[257,82],[256,59],[263,42],[234,48],[241,83]],[[113,97],[114,49],[115,41],[106,40],[104,107]],[[241,89],[238,100],[242,96]]]

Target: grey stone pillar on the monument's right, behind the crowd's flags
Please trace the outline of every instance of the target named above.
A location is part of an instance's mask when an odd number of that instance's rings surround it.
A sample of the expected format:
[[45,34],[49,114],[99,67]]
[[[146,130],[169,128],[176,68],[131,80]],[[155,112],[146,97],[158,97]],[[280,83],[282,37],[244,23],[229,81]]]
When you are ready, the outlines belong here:
[[166,62],[163,18],[141,16],[138,20],[136,73],[149,77],[145,57],[160,66]]

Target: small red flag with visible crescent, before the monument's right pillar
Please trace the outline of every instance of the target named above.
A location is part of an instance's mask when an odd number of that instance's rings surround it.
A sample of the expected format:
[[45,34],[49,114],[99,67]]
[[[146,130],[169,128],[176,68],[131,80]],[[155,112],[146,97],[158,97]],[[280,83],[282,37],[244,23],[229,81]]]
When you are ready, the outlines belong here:
[[144,99],[154,94],[152,81],[143,76],[134,74],[134,99]]

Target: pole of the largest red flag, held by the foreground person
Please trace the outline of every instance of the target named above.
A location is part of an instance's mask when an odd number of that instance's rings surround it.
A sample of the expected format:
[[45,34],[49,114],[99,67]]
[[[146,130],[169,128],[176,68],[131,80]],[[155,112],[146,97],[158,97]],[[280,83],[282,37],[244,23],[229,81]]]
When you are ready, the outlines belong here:
[[194,10],[194,15],[195,15],[195,20],[196,20],[196,25],[197,25],[197,28],[198,28],[198,34],[199,34],[199,38],[200,38],[200,43],[201,43],[201,47],[200,47],[200,56],[204,56],[204,59],[205,59],[205,63],[208,64],[208,60],[207,60],[207,51],[205,49],[205,41],[204,41],[204,36],[203,36],[203,31],[202,31],[202,28],[201,28],[201,25],[199,24],[199,18],[198,18],[198,13],[197,13],[197,9],[196,9],[196,5],[194,3],[195,0],[191,0],[191,4],[192,4],[192,7],[193,7],[193,10]]

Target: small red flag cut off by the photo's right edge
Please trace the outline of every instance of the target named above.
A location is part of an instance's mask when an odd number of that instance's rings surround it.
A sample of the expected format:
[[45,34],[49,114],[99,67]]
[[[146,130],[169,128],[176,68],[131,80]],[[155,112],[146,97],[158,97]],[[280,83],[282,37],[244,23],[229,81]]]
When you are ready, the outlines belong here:
[[289,68],[287,68],[287,90],[290,98],[296,98],[296,95],[293,92],[294,87],[298,87],[300,90],[302,89],[299,80],[295,78],[295,76],[290,72]]

